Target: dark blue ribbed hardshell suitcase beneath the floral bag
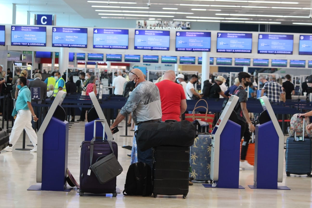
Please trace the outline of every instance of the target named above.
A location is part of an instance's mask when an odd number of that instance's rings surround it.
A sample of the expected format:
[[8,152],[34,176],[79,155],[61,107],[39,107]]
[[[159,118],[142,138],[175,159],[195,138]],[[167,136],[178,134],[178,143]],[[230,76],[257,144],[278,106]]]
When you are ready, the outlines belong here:
[[[305,119],[303,119],[304,121]],[[305,126],[303,122],[303,126]],[[305,129],[303,129],[303,134]],[[307,175],[312,177],[311,169],[312,169],[312,142],[311,138],[302,138],[299,140],[298,137],[288,137],[286,141],[286,152],[285,152],[285,160],[286,160],[286,175],[290,176],[290,174],[296,175]]]

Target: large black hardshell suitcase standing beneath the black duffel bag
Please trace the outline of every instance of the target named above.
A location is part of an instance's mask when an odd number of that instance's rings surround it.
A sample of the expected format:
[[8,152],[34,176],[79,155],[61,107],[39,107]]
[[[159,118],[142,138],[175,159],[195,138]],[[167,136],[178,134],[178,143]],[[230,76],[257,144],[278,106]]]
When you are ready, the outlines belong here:
[[153,182],[157,195],[188,195],[190,148],[154,147]]

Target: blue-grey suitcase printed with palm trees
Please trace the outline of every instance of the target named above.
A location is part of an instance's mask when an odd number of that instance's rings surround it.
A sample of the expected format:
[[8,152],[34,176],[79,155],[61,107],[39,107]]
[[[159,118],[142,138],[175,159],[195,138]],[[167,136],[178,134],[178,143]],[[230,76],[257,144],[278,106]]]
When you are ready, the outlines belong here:
[[211,134],[198,133],[194,144],[190,147],[190,177],[194,181],[211,181],[210,158],[211,158]]

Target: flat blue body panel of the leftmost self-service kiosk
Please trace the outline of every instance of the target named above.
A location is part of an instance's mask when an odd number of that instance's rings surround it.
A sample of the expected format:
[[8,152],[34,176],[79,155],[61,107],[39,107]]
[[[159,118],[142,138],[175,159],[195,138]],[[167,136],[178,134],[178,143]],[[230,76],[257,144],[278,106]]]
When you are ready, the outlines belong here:
[[68,129],[67,121],[52,117],[43,133],[41,190],[66,189]]

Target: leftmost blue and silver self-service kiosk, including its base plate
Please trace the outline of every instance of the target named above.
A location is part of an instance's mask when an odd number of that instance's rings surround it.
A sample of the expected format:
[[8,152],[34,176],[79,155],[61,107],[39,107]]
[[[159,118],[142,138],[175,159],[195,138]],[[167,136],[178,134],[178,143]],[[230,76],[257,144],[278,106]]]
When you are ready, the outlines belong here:
[[37,183],[27,190],[70,191],[66,189],[68,128],[61,104],[66,92],[59,91],[38,130]]

